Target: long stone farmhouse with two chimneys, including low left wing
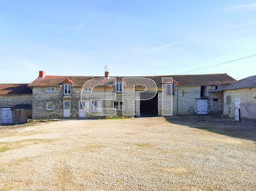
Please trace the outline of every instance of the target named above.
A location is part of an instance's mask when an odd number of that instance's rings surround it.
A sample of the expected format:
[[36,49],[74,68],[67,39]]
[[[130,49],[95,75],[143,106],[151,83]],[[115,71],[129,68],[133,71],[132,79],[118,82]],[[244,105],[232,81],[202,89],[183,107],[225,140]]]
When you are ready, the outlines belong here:
[[[113,78],[108,71],[105,77]],[[136,77],[138,85],[133,86],[123,83],[125,77],[116,77],[116,85],[108,82],[93,88],[92,92],[102,93],[102,97],[81,101],[81,92],[90,93],[93,87],[83,85],[95,78],[99,77],[46,76],[45,71],[39,71],[39,77],[30,84],[0,84],[0,122],[23,122],[26,118],[90,118],[98,113],[108,114],[105,108],[116,108],[117,115],[126,110],[137,117],[222,114],[223,93],[211,92],[236,82],[227,74],[167,75]],[[140,85],[143,78],[152,79],[157,88],[143,92],[145,88]],[[173,78],[173,81],[165,84],[163,78]],[[126,98],[125,91],[129,95]],[[105,93],[116,93],[116,99],[105,100],[108,97]],[[148,95],[155,96],[140,100]]]

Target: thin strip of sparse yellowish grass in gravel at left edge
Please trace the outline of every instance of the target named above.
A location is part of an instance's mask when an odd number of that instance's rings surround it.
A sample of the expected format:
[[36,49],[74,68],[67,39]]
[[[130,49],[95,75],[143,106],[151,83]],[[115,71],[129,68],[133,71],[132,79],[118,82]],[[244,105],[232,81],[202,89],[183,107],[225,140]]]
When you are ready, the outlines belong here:
[[53,139],[25,139],[22,141],[1,142],[0,152],[6,152],[8,150],[18,149],[32,144],[50,143],[53,141]]

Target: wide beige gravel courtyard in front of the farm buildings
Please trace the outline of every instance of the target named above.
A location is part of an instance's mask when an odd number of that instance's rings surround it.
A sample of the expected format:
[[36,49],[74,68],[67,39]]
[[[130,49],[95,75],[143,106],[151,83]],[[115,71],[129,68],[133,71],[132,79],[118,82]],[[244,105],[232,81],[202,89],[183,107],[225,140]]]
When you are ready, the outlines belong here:
[[256,124],[154,117],[0,127],[0,190],[256,190]]

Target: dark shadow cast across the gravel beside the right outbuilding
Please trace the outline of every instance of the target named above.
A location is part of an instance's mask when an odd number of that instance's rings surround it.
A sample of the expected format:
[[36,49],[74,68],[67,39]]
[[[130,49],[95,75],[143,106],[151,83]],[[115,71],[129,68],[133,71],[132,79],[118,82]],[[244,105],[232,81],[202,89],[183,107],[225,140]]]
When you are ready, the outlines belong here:
[[186,125],[190,128],[256,141],[256,123],[252,122],[236,122],[223,117],[198,115],[165,117],[165,120],[173,124]]

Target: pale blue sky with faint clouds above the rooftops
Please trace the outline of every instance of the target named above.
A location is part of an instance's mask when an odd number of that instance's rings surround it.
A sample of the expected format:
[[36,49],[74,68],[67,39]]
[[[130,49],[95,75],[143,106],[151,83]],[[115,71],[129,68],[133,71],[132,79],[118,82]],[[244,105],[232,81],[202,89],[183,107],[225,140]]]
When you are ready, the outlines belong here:
[[[0,82],[182,74],[256,54],[256,1],[1,1]],[[256,75],[256,56],[186,74]]]

